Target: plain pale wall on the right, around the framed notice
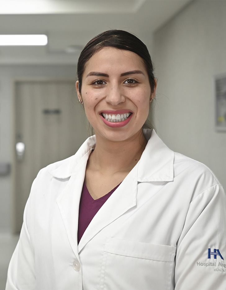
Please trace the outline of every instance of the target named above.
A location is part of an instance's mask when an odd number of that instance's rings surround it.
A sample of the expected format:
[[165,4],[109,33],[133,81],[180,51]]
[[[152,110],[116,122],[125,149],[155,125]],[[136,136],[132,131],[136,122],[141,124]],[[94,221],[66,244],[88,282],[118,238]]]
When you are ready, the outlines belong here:
[[226,73],[226,1],[193,1],[156,31],[155,124],[174,151],[205,163],[226,189],[226,132],[214,128],[214,80]]

